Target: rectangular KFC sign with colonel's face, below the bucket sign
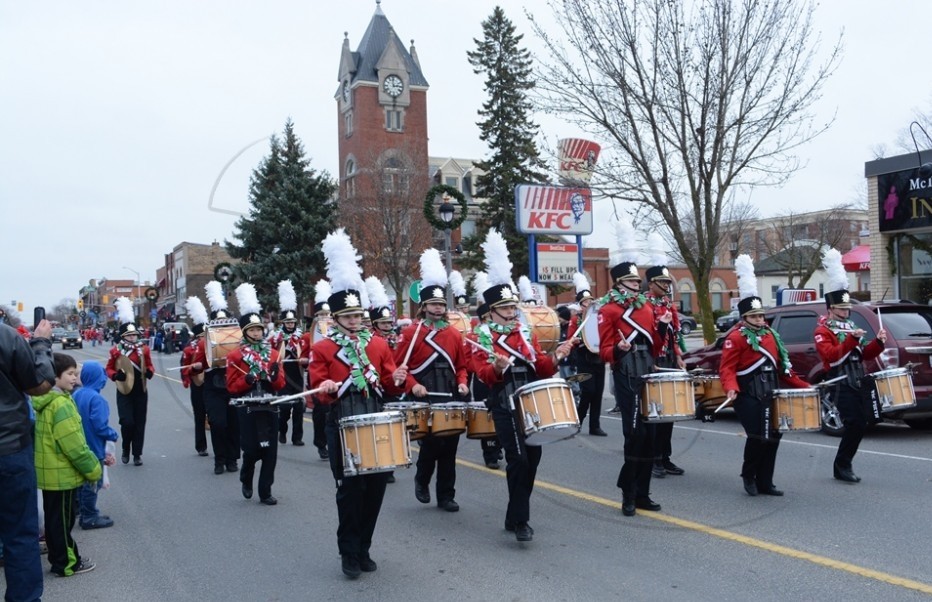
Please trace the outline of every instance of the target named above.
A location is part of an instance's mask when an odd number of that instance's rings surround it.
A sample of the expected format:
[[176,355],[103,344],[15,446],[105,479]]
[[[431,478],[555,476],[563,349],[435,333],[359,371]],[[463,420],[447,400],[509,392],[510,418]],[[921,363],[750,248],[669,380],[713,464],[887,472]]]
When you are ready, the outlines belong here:
[[592,234],[592,191],[521,184],[515,187],[515,213],[522,234]]

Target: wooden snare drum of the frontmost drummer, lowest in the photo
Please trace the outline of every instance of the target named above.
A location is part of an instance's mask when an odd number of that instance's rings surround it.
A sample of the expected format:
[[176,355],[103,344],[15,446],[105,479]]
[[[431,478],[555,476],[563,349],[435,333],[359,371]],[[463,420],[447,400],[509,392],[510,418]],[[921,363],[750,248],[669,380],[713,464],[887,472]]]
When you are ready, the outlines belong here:
[[345,476],[411,466],[411,444],[401,412],[347,416],[339,424]]

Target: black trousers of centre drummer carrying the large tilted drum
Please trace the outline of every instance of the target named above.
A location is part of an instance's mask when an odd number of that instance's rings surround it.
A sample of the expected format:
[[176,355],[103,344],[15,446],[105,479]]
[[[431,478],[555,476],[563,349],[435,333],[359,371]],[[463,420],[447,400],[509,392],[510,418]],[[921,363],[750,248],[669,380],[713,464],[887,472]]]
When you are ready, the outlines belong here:
[[515,425],[515,416],[507,407],[494,406],[492,419],[495,434],[505,451],[505,476],[508,481],[508,510],[505,522],[526,523],[531,517],[531,493],[540,465],[539,445],[526,445],[524,432]]

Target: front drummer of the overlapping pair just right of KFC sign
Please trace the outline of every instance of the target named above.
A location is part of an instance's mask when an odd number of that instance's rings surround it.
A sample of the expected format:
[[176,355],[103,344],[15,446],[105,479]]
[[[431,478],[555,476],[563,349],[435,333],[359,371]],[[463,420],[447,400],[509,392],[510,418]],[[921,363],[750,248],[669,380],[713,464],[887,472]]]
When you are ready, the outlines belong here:
[[[624,463],[618,473],[621,512],[634,516],[637,508],[660,511],[650,498],[650,478],[654,465],[653,424],[641,415],[642,379],[654,367],[658,354],[658,319],[647,297],[641,293],[641,276],[635,263],[640,256],[634,228],[626,221],[617,224],[616,235],[621,262],[611,269],[614,286],[602,298],[599,308],[599,355],[612,365],[615,403],[621,409],[625,437]],[[660,318],[669,324],[670,314]]]

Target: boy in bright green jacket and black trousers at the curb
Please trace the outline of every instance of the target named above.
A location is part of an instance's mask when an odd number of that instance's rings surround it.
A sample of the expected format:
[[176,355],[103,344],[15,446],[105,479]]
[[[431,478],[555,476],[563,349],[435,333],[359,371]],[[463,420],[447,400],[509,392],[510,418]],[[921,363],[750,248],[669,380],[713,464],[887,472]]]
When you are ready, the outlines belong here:
[[32,398],[36,410],[36,480],[45,509],[45,541],[52,572],[61,577],[87,573],[94,563],[81,558],[71,537],[77,516],[78,488],[101,476],[100,461],[84,438],[81,416],[71,399],[78,365],[64,353],[52,354],[55,388]]

